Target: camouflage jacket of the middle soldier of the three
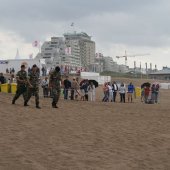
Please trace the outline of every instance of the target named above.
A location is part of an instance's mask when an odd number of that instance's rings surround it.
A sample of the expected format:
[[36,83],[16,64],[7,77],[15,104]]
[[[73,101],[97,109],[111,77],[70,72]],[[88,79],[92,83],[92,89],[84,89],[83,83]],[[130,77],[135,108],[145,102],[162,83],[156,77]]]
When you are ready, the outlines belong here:
[[28,79],[30,84],[35,88],[35,87],[39,87],[39,83],[40,83],[40,75],[38,72],[30,72],[28,75]]

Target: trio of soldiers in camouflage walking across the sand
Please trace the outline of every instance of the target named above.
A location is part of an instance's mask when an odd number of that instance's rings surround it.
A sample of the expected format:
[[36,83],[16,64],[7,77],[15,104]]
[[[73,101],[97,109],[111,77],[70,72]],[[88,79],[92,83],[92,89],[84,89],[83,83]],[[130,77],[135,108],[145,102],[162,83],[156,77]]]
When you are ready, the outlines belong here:
[[[21,70],[16,75],[17,91],[12,100],[12,104],[15,104],[16,100],[23,95],[24,106],[28,106],[28,102],[31,96],[35,96],[35,105],[37,109],[40,109],[39,105],[39,85],[41,83],[40,72],[37,65],[33,65],[30,72],[27,74],[25,71],[25,65],[21,65]],[[56,67],[53,72],[50,73],[49,88],[52,92],[52,107],[58,108],[57,103],[60,97],[60,67]]]

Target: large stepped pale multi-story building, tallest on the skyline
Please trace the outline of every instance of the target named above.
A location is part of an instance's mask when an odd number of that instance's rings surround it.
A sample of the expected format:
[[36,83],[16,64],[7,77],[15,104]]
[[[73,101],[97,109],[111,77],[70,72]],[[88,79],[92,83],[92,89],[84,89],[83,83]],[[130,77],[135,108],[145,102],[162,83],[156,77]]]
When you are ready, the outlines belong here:
[[86,33],[67,33],[64,37],[51,37],[44,42],[41,54],[47,67],[55,65],[70,68],[88,68],[95,61],[95,42]]

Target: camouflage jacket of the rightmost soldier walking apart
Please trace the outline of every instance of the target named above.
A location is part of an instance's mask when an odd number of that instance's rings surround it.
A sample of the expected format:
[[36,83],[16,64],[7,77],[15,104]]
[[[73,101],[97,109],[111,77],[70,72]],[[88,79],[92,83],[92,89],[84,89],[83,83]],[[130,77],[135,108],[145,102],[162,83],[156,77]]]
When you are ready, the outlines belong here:
[[53,71],[50,74],[50,84],[52,88],[60,88],[61,73]]

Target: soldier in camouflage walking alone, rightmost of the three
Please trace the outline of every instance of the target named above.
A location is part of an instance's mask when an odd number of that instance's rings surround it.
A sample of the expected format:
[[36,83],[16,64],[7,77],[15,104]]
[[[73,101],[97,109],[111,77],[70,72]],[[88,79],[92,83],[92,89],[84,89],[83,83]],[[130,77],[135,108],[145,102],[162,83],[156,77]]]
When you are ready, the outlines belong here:
[[60,98],[60,92],[61,92],[61,73],[60,73],[60,67],[56,67],[55,70],[50,74],[50,80],[49,80],[49,87],[52,90],[52,107],[58,108],[57,103]]

